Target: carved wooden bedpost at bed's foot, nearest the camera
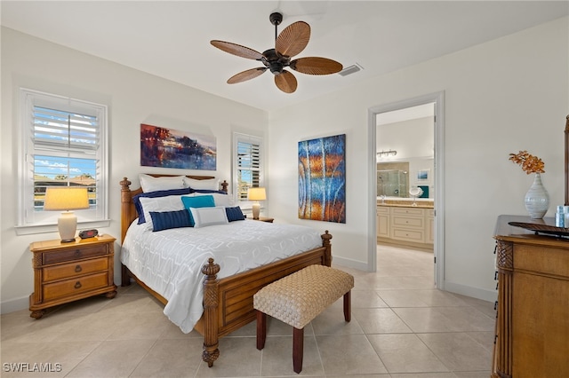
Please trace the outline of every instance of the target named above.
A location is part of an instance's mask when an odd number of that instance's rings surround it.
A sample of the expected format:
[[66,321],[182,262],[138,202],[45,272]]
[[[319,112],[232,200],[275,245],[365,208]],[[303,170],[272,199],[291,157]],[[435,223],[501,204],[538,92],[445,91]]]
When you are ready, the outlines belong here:
[[212,367],[213,361],[220,357],[219,347],[219,319],[218,319],[218,280],[217,273],[220,265],[214,264],[210,257],[207,264],[202,267],[204,279],[204,351],[202,359],[207,366]]

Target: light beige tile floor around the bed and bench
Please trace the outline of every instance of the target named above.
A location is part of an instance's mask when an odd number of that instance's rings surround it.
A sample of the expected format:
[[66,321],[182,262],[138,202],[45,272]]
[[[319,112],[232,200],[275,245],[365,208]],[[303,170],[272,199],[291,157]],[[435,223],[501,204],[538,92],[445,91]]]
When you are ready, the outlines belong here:
[[[493,303],[439,291],[428,252],[378,246],[374,273],[354,275],[352,321],[341,300],[305,328],[300,375],[353,378],[487,378],[493,348]],[[265,349],[255,325],[220,340],[212,368],[202,341],[165,318],[142,288],[119,287],[115,299],[93,297],[60,306],[43,319],[28,311],[1,317],[4,377],[275,377],[295,376],[292,328],[269,319]],[[272,320],[272,321],[271,321]],[[15,373],[13,364],[51,367]],[[51,365],[48,365],[51,364]],[[60,364],[60,365],[56,365]],[[60,366],[60,369],[59,369]],[[60,371],[53,371],[60,370]]]

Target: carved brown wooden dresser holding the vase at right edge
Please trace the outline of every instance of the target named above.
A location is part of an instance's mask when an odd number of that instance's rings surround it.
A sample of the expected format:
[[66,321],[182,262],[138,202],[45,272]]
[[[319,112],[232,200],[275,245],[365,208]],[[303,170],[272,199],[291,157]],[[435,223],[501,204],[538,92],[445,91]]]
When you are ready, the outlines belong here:
[[498,312],[492,377],[569,377],[569,239],[496,224]]

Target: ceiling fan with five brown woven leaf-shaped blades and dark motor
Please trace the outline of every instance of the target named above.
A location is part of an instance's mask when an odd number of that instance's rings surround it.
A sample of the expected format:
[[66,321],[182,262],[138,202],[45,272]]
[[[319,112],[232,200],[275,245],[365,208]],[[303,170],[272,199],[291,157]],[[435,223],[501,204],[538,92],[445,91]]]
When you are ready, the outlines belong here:
[[243,83],[270,70],[275,75],[276,87],[285,93],[293,93],[298,83],[296,77],[290,71],[285,70],[285,67],[308,75],[330,75],[341,71],[342,65],[333,59],[309,57],[291,60],[309,44],[309,24],[304,21],[293,22],[277,36],[276,28],[282,22],[283,15],[278,12],[271,13],[268,20],[275,25],[275,48],[268,49],[262,54],[240,44],[211,41],[213,46],[222,51],[246,59],[259,60],[265,66],[233,75],[228,79],[228,84]]

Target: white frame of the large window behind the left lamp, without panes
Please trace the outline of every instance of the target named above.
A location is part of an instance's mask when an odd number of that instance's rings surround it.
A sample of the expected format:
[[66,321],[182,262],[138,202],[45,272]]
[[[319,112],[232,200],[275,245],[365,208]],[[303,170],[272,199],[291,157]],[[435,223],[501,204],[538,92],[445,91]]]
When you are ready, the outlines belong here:
[[[58,211],[35,211],[34,206],[34,156],[77,157],[72,149],[66,153],[61,149],[36,146],[34,143],[34,106],[43,106],[76,114],[89,114],[97,117],[99,125],[99,143],[92,154],[85,154],[97,162],[95,185],[97,187],[96,206],[91,209],[76,210],[77,228],[108,227],[108,106],[95,104],[76,98],[54,95],[41,91],[20,88],[20,151],[18,164],[20,179],[18,182],[18,224],[19,235],[41,232],[56,232]],[[79,151],[79,150],[77,150]]]

